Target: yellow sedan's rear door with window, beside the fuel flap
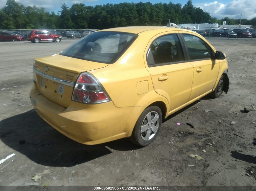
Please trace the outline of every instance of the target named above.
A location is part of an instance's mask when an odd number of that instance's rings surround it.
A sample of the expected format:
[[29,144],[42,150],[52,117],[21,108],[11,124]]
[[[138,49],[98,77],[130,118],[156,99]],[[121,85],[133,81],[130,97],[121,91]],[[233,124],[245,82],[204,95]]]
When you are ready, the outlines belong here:
[[188,102],[193,81],[193,67],[184,55],[184,45],[177,33],[160,33],[146,48],[146,68],[155,91],[169,102],[169,111]]

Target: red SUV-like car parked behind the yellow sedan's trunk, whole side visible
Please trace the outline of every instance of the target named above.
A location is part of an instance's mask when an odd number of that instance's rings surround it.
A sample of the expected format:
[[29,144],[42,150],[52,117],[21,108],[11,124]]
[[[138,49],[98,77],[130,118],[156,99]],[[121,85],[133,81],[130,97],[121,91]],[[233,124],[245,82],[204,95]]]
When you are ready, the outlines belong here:
[[28,40],[32,43],[39,43],[40,41],[61,42],[61,37],[58,34],[52,34],[47,30],[32,30]]

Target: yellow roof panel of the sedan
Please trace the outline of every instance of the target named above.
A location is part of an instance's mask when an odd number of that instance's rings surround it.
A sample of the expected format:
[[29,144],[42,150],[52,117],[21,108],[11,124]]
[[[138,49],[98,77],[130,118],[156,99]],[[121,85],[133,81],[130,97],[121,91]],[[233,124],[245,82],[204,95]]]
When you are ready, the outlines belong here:
[[178,30],[188,31],[187,29],[172,28],[172,27],[158,27],[158,26],[117,27],[117,28],[104,29],[100,31],[114,31],[114,32],[126,32],[126,33],[138,34],[145,31],[154,31],[154,30],[157,32],[178,31]]

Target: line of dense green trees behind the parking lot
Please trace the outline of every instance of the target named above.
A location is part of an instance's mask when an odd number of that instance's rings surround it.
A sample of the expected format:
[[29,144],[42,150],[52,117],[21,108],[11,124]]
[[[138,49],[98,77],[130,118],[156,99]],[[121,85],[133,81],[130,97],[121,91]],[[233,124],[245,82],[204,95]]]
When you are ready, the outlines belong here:
[[[0,29],[105,29],[111,27],[155,25],[166,26],[171,21],[184,23],[239,24],[239,19],[211,17],[201,8],[194,7],[191,0],[181,4],[169,3],[119,3],[86,6],[63,3],[60,11],[48,12],[44,8],[25,7],[15,0],[7,0],[0,9]],[[242,19],[241,24],[256,26],[256,18]]]

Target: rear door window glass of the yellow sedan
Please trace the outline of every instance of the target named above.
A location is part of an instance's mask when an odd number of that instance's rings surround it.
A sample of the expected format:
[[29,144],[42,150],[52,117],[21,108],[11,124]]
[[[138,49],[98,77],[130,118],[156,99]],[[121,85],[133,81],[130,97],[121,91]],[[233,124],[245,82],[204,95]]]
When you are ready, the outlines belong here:
[[184,61],[181,43],[176,34],[157,38],[151,45],[147,54],[149,65]]

